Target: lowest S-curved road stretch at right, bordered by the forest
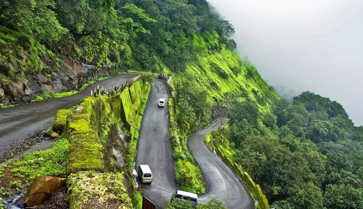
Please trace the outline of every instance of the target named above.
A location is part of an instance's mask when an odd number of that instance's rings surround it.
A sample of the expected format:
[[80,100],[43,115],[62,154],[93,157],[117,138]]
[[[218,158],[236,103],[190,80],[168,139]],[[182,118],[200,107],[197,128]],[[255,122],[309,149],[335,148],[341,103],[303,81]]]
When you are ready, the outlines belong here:
[[221,128],[227,119],[218,119],[206,129],[189,136],[188,149],[201,168],[208,184],[208,193],[199,195],[201,203],[219,199],[230,209],[254,209],[254,201],[239,178],[204,142],[207,133]]

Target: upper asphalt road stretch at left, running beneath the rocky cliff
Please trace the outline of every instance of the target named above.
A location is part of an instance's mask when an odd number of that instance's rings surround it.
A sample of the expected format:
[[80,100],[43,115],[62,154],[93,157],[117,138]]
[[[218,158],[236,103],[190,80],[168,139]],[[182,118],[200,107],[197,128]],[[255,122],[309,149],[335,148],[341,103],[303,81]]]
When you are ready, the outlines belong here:
[[100,87],[120,86],[136,75],[120,74],[88,86],[84,91],[62,98],[47,99],[23,106],[0,109],[0,156],[17,146],[17,142],[32,137],[35,133],[47,129],[57,110],[68,109],[79,103],[79,100],[91,94],[97,85]]

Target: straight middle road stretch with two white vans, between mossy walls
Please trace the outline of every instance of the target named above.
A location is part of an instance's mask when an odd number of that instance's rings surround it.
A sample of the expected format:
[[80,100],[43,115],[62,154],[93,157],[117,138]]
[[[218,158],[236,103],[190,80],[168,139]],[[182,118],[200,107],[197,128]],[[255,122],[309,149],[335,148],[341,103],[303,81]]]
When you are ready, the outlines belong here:
[[136,168],[146,164],[153,173],[151,184],[141,184],[138,179],[139,185],[144,195],[159,208],[164,208],[165,202],[178,188],[175,181],[173,149],[169,139],[167,102],[165,107],[158,107],[159,99],[167,101],[169,96],[167,85],[162,80],[155,79],[151,84],[137,144]]

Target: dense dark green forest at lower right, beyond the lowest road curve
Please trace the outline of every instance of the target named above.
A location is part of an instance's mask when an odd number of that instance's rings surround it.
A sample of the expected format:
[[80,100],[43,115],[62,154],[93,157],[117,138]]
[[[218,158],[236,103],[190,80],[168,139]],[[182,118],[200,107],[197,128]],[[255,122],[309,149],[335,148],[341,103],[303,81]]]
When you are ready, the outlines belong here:
[[363,208],[363,134],[336,101],[304,92],[261,113],[237,104],[213,142],[282,209]]

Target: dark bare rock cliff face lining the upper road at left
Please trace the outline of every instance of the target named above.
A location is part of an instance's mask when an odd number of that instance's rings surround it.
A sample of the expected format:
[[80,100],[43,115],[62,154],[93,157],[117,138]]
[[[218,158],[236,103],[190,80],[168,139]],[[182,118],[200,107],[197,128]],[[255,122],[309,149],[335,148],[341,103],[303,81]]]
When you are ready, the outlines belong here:
[[112,75],[115,72],[114,64],[95,66],[84,64],[81,61],[58,55],[45,57],[41,60],[47,64],[47,69],[42,73],[24,75],[22,79],[10,80],[1,75],[2,66],[0,61],[0,103],[4,105],[20,104],[30,102],[36,95],[43,91],[63,92],[78,90],[84,83],[94,78]]

